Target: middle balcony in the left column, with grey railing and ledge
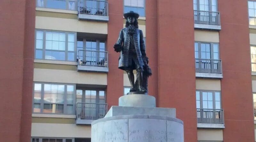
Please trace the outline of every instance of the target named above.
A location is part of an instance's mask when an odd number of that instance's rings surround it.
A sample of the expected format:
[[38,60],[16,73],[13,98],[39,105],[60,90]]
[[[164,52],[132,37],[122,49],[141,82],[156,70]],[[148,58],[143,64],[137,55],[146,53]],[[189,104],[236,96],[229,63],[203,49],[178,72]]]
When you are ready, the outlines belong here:
[[108,52],[78,50],[77,71],[108,72]]

